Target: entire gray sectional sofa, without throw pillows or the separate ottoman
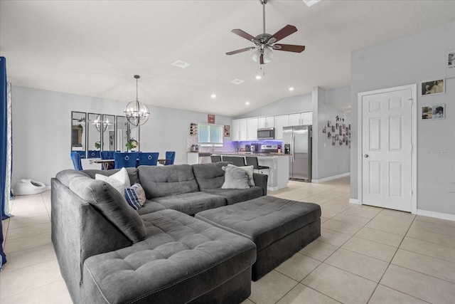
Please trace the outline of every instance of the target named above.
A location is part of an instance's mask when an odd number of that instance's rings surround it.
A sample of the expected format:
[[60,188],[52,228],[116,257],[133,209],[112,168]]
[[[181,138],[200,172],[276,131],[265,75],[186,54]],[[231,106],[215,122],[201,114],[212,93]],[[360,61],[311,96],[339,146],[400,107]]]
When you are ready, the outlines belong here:
[[128,169],[146,203],[132,209],[95,174],[64,170],[51,181],[52,241],[74,303],[240,303],[250,295],[255,243],[195,219],[206,209],[267,194],[220,189],[223,165]]

